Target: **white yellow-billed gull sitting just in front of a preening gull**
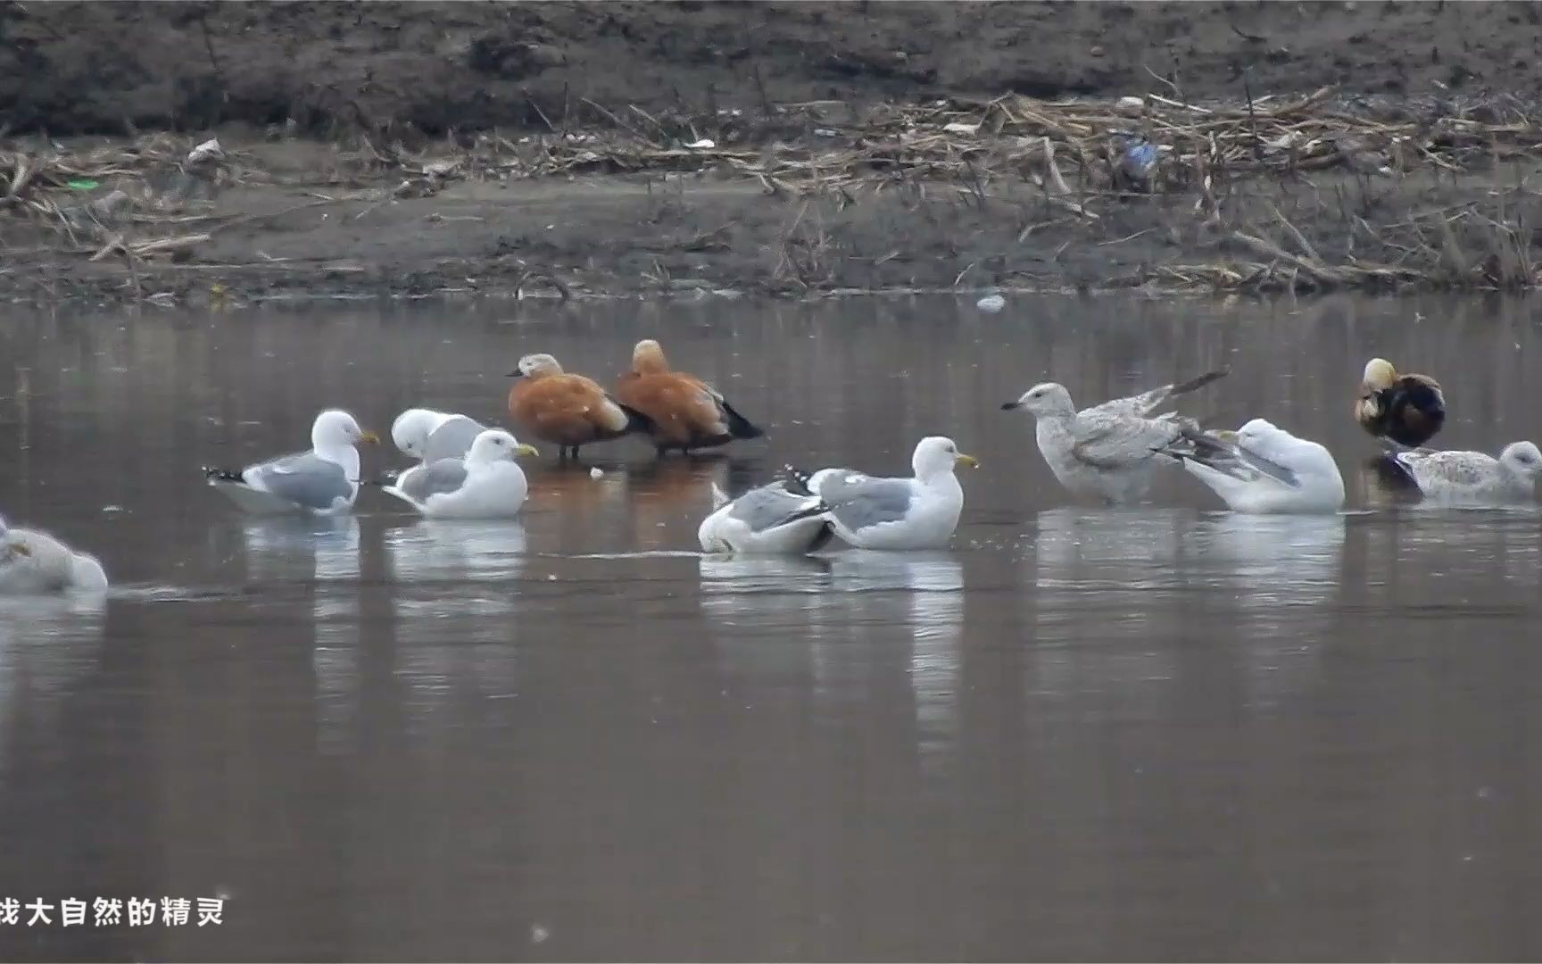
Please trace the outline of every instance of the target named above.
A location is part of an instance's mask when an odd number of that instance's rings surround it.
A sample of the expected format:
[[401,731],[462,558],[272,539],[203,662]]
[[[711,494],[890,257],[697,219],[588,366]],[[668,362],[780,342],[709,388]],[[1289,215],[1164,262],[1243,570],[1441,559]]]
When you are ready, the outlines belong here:
[[497,518],[520,512],[529,494],[520,455],[538,455],[503,429],[476,435],[464,458],[439,458],[402,475],[386,494],[433,518]]

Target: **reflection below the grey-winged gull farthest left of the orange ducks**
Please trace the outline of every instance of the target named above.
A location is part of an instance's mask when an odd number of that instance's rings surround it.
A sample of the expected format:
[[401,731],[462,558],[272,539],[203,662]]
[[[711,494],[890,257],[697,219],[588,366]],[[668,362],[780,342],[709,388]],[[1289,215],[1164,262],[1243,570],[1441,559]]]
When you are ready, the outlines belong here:
[[345,753],[358,717],[359,520],[248,518],[242,537],[248,583],[310,589],[316,742],[322,753]]

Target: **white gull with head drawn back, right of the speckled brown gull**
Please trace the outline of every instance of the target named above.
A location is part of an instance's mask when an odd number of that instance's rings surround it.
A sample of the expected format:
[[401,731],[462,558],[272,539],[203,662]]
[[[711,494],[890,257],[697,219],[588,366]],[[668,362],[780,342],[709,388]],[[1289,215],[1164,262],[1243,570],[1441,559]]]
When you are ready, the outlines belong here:
[[1263,418],[1237,432],[1186,429],[1163,452],[1235,512],[1332,514],[1345,504],[1345,480],[1328,449]]

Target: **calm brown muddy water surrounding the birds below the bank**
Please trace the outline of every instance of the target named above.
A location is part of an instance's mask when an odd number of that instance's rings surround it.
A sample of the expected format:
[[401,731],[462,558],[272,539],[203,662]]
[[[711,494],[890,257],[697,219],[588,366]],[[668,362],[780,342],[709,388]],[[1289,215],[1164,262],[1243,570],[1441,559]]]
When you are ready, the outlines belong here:
[[[520,353],[609,381],[640,336],[769,438],[547,450],[520,524],[258,521],[197,470],[324,406],[498,420]],[[1542,436],[1531,305],[11,312],[0,352],[0,511],[117,583],[0,608],[0,898],[225,898],[23,910],[5,959],[1542,955],[1542,526],[1388,500],[1349,420],[1375,352],[1445,446]],[[1220,364],[1184,409],[1321,440],[1351,512],[1081,507],[998,407]],[[982,461],[950,552],[694,552],[709,480],[936,432]]]

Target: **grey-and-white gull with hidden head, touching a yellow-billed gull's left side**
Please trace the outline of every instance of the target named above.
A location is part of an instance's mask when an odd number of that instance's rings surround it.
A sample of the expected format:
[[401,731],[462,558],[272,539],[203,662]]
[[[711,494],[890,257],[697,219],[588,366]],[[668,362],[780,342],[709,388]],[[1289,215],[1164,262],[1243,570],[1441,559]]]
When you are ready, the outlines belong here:
[[757,486],[736,500],[712,483],[712,509],[695,534],[702,552],[796,555],[817,551],[834,534],[830,506],[791,481]]

